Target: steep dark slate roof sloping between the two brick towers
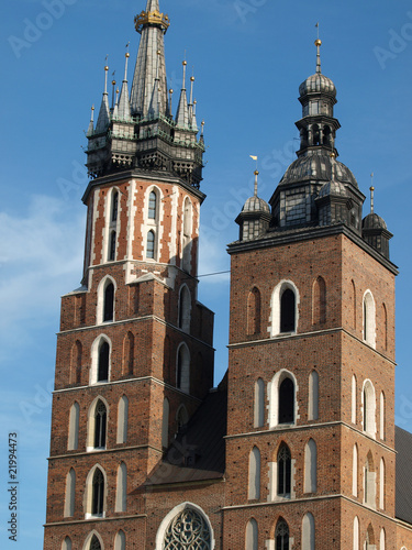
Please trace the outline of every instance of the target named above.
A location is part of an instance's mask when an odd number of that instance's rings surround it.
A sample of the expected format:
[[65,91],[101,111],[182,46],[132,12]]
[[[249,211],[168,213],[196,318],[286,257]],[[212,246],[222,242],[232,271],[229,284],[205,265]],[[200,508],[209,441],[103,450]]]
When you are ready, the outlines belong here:
[[170,444],[145,486],[223,479],[225,470],[227,388],[211,391]]

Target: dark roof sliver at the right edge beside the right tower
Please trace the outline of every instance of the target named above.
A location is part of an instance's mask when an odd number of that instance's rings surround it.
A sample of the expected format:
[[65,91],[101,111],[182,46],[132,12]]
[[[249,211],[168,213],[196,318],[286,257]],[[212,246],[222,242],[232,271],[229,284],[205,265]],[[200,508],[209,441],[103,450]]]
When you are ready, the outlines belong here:
[[412,433],[394,428],[397,450],[396,517],[412,524]]

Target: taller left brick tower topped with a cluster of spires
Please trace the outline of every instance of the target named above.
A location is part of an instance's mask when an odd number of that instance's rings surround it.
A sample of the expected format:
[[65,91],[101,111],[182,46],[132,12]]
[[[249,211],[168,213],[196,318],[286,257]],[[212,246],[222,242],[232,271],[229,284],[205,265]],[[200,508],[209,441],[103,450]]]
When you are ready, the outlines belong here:
[[191,77],[176,117],[158,0],[131,94],[108,70],[87,138],[90,184],[81,287],[63,297],[53,396],[47,550],[145,547],[138,493],[213,384],[213,315],[197,300],[203,135]]

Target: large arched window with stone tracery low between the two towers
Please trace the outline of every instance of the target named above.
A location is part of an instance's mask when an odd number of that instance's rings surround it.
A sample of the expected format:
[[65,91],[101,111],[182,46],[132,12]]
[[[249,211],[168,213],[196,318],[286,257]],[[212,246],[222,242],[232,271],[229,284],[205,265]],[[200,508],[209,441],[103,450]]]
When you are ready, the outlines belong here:
[[210,550],[211,532],[204,517],[196,509],[186,507],[168,525],[162,548]]

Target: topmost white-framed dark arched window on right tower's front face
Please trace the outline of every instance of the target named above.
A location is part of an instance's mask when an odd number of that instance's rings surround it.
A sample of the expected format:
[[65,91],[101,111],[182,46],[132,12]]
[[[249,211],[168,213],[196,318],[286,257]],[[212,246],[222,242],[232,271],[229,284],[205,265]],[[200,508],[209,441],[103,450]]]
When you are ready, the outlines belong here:
[[299,292],[291,280],[281,280],[271,295],[271,337],[298,330]]

